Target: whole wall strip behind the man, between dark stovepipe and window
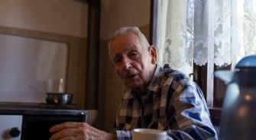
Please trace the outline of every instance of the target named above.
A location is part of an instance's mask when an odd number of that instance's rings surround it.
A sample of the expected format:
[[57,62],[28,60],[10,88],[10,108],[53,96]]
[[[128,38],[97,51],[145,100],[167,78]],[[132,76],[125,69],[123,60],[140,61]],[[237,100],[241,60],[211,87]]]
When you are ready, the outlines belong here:
[[108,41],[122,26],[137,26],[149,38],[150,0],[103,0],[99,67],[99,115],[96,126],[112,132],[116,110],[125,86],[115,74],[108,53]]

